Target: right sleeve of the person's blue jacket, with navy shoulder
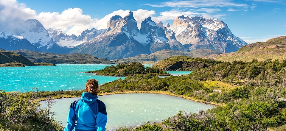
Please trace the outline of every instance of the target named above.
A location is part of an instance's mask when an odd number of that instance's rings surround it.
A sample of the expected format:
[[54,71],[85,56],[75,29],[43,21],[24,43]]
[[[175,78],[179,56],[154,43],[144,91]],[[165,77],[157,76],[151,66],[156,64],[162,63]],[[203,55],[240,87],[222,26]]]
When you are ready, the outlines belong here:
[[102,105],[99,105],[99,112],[96,116],[96,128],[97,131],[104,131],[105,126],[107,123],[107,113],[105,105],[102,103]]

